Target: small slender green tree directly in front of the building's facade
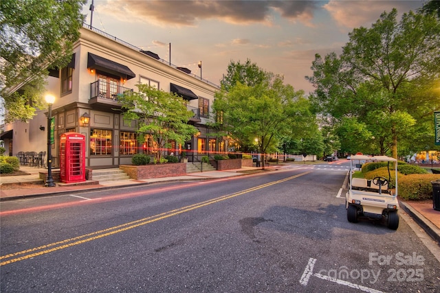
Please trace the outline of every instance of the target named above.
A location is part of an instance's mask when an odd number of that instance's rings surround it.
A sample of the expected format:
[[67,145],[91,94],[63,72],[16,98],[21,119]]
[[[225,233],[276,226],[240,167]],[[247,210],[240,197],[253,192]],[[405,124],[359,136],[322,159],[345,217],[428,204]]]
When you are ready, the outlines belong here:
[[138,92],[127,92],[119,97],[124,110],[124,120],[138,121],[137,132],[140,142],[144,134],[151,134],[157,143],[156,162],[160,162],[164,150],[170,148],[171,142],[183,145],[197,128],[188,124],[194,115],[186,108],[186,101],[175,93],[155,89],[146,84],[137,84]]

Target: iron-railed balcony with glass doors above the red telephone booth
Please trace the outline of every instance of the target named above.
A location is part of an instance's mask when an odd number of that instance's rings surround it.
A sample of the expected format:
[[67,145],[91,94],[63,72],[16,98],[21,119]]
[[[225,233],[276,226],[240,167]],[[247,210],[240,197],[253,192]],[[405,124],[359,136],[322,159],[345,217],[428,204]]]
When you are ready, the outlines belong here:
[[90,99],[89,104],[100,104],[100,106],[109,106],[120,108],[118,97],[127,91],[133,89],[119,86],[115,82],[107,82],[104,80],[97,80],[90,84]]

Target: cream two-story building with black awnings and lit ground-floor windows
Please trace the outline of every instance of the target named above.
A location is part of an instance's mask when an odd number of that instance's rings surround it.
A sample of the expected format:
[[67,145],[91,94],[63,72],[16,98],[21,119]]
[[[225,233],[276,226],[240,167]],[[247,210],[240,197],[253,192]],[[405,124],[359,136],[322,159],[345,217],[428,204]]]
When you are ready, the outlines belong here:
[[[118,95],[137,91],[138,83],[177,93],[194,113],[188,124],[196,126],[199,133],[185,145],[176,145],[176,155],[184,149],[188,159],[196,161],[207,152],[223,151],[227,146],[207,125],[212,121],[210,107],[219,86],[93,27],[85,25],[80,29],[71,62],[51,71],[47,82],[47,93],[56,97],[52,105],[54,167],[59,164],[59,137],[65,132],[85,135],[87,167],[117,167],[131,164],[135,153],[153,154],[155,142],[148,134],[143,145],[137,142],[138,122],[124,121],[118,102]],[[88,124],[85,117],[89,117]],[[47,150],[50,131],[47,109],[38,110],[28,123],[5,124],[4,130],[5,154],[43,152]]]

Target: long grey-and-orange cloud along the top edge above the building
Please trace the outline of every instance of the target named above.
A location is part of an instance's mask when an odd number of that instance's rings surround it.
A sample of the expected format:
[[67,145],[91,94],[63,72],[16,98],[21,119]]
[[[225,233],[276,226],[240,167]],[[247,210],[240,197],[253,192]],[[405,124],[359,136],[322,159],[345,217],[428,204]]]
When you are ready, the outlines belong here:
[[196,26],[206,19],[248,25],[272,25],[272,14],[278,12],[290,21],[307,22],[313,18],[314,1],[126,1],[107,0],[100,4],[101,13],[121,20],[148,21],[160,26]]

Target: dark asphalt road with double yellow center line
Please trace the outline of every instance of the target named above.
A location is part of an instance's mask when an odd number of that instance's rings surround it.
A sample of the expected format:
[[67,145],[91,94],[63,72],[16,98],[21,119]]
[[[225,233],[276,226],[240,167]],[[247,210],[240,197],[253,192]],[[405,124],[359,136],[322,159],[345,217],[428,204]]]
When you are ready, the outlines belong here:
[[410,221],[347,222],[322,166],[2,202],[0,291],[439,292]]

